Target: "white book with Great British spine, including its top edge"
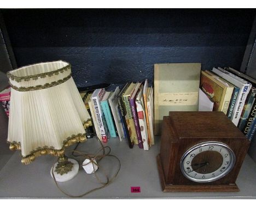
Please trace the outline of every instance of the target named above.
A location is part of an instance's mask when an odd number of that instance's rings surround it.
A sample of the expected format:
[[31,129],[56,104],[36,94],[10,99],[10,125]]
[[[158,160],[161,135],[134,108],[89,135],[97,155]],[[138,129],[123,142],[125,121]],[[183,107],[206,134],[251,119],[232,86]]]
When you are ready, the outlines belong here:
[[245,105],[246,97],[252,87],[252,84],[222,68],[213,68],[212,71],[220,77],[226,79],[226,81],[231,82],[232,84],[236,85],[236,87],[240,88],[231,119],[231,121],[237,126],[241,117],[243,106]]

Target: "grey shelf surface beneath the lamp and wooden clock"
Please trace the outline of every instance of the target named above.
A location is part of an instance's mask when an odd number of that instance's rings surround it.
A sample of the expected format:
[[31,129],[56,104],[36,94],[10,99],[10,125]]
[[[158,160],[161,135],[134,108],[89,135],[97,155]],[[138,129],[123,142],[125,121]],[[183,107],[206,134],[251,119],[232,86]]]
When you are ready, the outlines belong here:
[[[191,198],[191,199],[256,199],[256,164],[248,155],[237,178],[237,186],[240,192],[225,193],[164,193],[161,190],[160,179],[156,164],[156,156],[159,153],[160,139],[156,138],[156,144],[149,151],[139,149],[136,145],[129,149],[126,141],[109,139],[110,154],[115,155],[121,162],[121,169],[117,178],[110,185],[92,192],[83,198]],[[106,145],[105,145],[106,146]],[[79,145],[78,150],[86,153],[95,153],[100,144],[98,141],[88,139]],[[71,146],[68,150],[74,149]],[[68,151],[66,151],[68,152]],[[50,176],[50,169],[56,157],[41,156],[36,161],[25,166],[20,162],[20,152],[16,151],[5,166],[0,170],[0,197],[1,198],[68,198],[56,187]],[[110,175],[115,174],[118,162],[114,158],[106,157],[100,162]],[[101,172],[97,172],[102,175]],[[59,183],[60,187],[72,195],[80,195],[89,189],[101,186],[94,174],[86,174],[79,170],[74,179]],[[131,193],[131,186],[141,187],[141,193]]]

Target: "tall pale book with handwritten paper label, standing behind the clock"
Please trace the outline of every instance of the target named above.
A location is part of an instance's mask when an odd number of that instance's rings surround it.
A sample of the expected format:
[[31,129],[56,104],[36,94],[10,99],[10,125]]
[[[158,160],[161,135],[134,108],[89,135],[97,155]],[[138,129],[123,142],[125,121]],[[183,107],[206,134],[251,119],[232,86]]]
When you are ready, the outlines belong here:
[[201,63],[154,65],[154,134],[170,111],[198,111]]

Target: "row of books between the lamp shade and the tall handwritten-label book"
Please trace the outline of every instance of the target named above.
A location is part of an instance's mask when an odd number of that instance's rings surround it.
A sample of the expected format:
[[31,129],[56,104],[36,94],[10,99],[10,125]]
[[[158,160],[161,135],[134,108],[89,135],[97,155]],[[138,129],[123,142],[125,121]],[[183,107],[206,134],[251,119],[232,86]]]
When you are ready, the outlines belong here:
[[149,87],[148,79],[126,83],[114,91],[96,89],[83,94],[83,100],[103,143],[119,137],[127,139],[130,148],[137,144],[149,150],[154,144],[153,87]]

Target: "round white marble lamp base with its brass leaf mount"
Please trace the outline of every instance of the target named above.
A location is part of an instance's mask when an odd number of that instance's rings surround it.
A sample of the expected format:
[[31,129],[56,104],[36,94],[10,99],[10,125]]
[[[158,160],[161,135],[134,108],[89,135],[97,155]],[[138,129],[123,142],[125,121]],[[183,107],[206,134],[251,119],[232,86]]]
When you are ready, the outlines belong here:
[[73,179],[78,174],[78,170],[79,164],[77,161],[62,155],[51,168],[51,176],[53,177],[54,174],[56,181],[64,182]]

